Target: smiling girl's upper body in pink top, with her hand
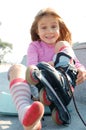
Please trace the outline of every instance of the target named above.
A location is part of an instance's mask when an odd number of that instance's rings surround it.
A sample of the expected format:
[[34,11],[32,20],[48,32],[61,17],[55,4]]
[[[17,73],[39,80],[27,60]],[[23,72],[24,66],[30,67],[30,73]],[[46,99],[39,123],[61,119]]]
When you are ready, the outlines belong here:
[[[42,61],[50,63],[56,52],[64,51],[65,46],[67,46],[66,52],[70,48],[72,50],[69,29],[55,10],[50,8],[40,10],[36,15],[31,27],[31,38],[32,42],[27,51],[27,66],[37,65]],[[69,55],[75,55],[73,50]],[[86,80],[86,69],[77,58],[76,67],[78,69],[76,84],[78,85]]]

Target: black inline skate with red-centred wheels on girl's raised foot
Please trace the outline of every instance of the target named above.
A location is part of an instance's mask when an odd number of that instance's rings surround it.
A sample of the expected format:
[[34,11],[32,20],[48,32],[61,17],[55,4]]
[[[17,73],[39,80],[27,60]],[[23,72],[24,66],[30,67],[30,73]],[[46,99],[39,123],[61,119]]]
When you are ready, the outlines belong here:
[[[61,60],[61,55],[57,59]],[[67,57],[68,59],[70,57]],[[74,73],[70,77],[69,73],[71,71],[74,71]],[[67,105],[72,99],[70,86],[74,85],[73,87],[75,87],[72,76],[75,76],[74,78],[76,79],[76,74],[77,72],[74,68],[69,68],[69,63],[61,67],[61,63],[58,65],[55,62],[54,68],[48,63],[41,62],[37,66],[27,68],[27,82],[37,86],[39,100],[44,105],[49,106],[52,118],[58,125],[69,124],[71,121]]]

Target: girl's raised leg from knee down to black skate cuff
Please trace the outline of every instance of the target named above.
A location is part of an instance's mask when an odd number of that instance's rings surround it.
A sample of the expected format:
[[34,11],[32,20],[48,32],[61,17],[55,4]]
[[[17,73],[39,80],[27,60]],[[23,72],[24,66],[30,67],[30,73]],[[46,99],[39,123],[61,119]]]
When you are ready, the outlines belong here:
[[[72,82],[72,86],[75,87],[75,81],[77,77],[77,63],[78,59],[71,47],[66,41],[59,41],[56,44],[57,55],[54,62],[55,68],[62,67],[67,74],[67,77]],[[69,58],[67,58],[69,57]]]

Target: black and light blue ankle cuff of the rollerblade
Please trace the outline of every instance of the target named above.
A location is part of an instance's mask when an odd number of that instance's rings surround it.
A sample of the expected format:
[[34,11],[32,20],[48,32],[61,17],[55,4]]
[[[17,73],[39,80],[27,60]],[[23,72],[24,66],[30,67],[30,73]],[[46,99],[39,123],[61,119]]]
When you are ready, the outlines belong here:
[[73,58],[64,52],[60,52],[57,54],[56,61],[54,63],[56,70],[61,70],[66,74],[70,84],[75,87],[77,69],[75,68],[75,61]]

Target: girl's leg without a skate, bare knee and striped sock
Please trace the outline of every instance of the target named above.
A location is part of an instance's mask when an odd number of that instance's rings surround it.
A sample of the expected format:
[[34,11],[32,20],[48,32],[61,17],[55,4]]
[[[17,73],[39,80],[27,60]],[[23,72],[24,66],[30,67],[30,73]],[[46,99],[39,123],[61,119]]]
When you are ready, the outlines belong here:
[[25,130],[41,130],[41,118],[44,114],[42,103],[32,103],[30,86],[25,81],[26,67],[13,65],[8,73],[10,92],[18,111],[18,116]]

